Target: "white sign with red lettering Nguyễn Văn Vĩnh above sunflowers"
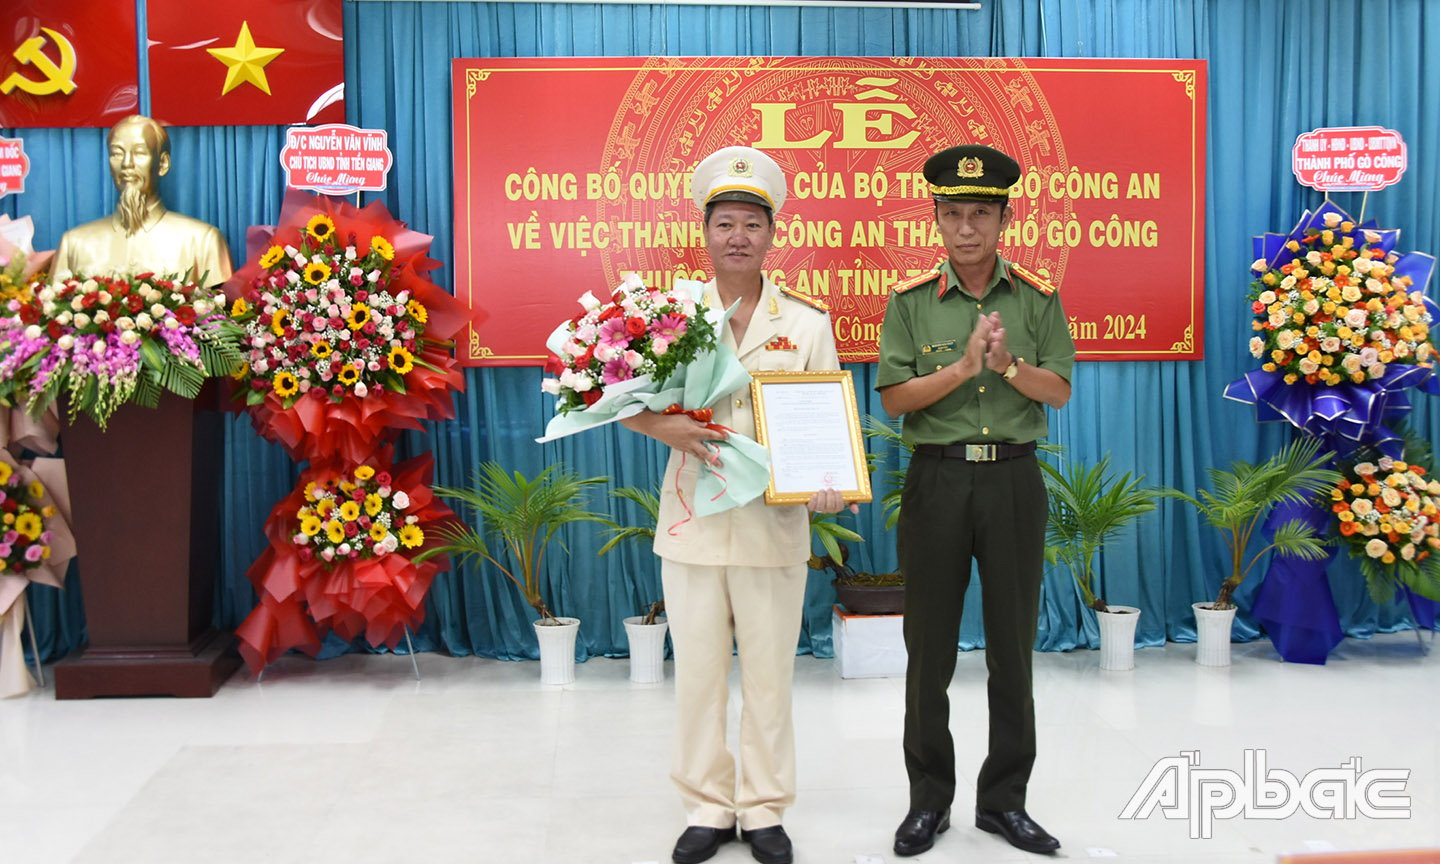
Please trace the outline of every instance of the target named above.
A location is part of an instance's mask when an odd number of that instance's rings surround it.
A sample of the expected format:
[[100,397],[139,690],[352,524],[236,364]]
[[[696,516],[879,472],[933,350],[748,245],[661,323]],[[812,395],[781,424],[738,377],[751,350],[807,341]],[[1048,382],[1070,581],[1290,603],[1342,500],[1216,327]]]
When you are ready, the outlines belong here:
[[324,194],[380,192],[395,164],[389,132],[328,124],[285,130],[279,164],[288,189],[312,189]]

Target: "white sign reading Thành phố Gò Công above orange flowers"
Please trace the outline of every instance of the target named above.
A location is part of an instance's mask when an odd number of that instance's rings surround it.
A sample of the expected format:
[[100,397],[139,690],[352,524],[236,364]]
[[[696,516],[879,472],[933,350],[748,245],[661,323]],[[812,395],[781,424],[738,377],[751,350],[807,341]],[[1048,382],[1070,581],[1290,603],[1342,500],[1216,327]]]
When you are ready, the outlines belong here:
[[1378,192],[1405,173],[1405,141],[1381,127],[1310,130],[1295,140],[1290,167],[1320,192]]

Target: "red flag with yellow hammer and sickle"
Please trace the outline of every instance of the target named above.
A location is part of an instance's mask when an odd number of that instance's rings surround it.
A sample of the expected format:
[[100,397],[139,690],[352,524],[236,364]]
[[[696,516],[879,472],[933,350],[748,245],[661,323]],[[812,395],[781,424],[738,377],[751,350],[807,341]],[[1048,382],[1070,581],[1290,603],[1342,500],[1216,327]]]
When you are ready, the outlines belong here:
[[108,127],[135,112],[135,4],[9,0],[0,127]]

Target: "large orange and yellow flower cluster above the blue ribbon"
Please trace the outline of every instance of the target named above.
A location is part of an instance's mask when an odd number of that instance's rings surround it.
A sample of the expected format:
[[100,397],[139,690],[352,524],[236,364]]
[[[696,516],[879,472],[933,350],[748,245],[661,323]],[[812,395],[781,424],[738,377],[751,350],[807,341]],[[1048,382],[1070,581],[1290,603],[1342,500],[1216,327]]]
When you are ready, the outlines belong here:
[[1339,212],[1290,238],[1279,259],[1257,259],[1250,285],[1250,354],[1293,384],[1364,383],[1392,363],[1431,366],[1434,344],[1424,294],[1395,271],[1384,235]]

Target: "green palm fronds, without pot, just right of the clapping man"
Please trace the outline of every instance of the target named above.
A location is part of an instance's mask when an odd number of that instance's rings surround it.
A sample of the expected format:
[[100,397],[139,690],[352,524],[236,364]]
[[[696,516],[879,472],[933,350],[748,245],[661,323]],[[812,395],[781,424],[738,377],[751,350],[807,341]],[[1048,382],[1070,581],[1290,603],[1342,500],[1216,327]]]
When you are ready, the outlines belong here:
[[1045,552],[1074,576],[1086,606],[1109,612],[1094,592],[1094,557],[1122,528],[1155,510],[1155,490],[1140,485],[1143,477],[1112,477],[1109,454],[1090,467],[1070,461],[1060,469],[1041,461],[1040,469],[1050,492]]

